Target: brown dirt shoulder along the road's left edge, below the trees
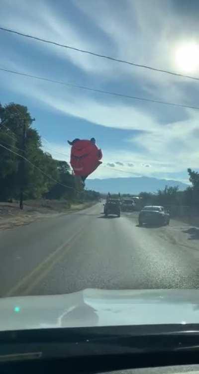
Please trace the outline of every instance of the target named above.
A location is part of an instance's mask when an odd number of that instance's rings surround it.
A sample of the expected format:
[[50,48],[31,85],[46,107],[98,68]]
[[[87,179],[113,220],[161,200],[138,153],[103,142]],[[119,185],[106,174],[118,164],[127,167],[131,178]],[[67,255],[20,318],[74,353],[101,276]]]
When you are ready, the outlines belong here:
[[27,200],[23,210],[17,202],[0,202],[0,231],[28,225],[36,220],[69,214],[92,206],[94,202],[70,203],[66,200]]

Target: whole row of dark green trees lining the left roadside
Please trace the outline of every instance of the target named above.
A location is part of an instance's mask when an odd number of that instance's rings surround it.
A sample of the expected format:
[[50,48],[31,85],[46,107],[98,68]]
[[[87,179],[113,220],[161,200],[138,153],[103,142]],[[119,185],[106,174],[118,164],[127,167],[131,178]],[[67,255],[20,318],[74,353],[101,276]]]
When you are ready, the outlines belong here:
[[64,200],[64,206],[70,208],[99,200],[95,191],[77,193],[69,164],[42,150],[33,121],[27,107],[0,104],[0,201],[17,202],[21,188],[24,202]]

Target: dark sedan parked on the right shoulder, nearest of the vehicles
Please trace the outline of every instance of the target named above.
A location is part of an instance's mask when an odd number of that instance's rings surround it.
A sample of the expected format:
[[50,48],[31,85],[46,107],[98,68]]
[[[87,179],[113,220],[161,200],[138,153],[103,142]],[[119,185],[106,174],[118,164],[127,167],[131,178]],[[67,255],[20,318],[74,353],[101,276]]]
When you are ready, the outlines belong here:
[[170,214],[163,206],[147,205],[139,213],[139,225],[161,224],[169,225]]

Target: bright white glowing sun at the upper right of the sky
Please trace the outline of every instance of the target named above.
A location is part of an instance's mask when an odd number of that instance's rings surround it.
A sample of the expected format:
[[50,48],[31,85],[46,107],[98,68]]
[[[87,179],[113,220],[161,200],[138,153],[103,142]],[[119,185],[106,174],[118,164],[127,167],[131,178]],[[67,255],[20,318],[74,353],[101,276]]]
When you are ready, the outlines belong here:
[[199,69],[199,45],[182,44],[176,49],[175,63],[182,72],[196,72]]

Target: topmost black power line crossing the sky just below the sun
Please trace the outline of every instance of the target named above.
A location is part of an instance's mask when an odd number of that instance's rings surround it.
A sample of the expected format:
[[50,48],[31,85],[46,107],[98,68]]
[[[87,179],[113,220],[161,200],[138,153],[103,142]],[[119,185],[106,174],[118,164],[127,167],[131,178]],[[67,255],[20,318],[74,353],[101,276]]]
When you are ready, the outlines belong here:
[[56,45],[58,47],[71,49],[71,50],[76,51],[76,52],[86,53],[86,54],[89,54],[89,55],[92,55],[92,56],[104,58],[104,59],[111,60],[111,61],[116,61],[116,62],[119,62],[119,63],[122,63],[122,64],[132,65],[132,66],[136,66],[138,68],[144,68],[144,69],[152,70],[152,71],[155,71],[155,72],[166,73],[166,74],[174,75],[174,76],[177,76],[177,77],[188,78],[188,79],[193,79],[193,80],[199,81],[199,78],[197,78],[197,77],[192,77],[192,76],[185,75],[185,74],[175,73],[175,72],[171,72],[171,71],[165,70],[165,69],[157,69],[157,68],[153,68],[152,66],[148,66],[148,65],[136,64],[135,62],[131,62],[131,61],[116,59],[116,58],[111,57],[111,56],[101,55],[99,53],[95,53],[95,52],[87,51],[87,50],[84,50],[84,49],[72,47],[72,46],[69,46],[69,45],[66,45],[66,44],[56,43],[56,42],[53,42],[51,40],[42,39],[42,38],[39,38],[39,37],[36,37],[36,36],[33,36],[33,35],[29,35],[29,34],[23,34],[22,32],[7,29],[7,28],[4,28],[4,27],[0,27],[0,30],[11,32],[13,34],[24,36],[26,38],[30,38],[30,39],[34,39],[34,40],[38,40],[38,41],[41,41],[41,42],[44,42],[44,43],[53,44],[53,45]]

